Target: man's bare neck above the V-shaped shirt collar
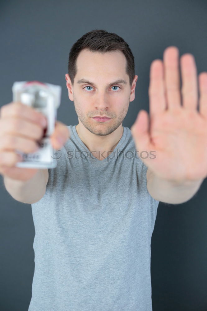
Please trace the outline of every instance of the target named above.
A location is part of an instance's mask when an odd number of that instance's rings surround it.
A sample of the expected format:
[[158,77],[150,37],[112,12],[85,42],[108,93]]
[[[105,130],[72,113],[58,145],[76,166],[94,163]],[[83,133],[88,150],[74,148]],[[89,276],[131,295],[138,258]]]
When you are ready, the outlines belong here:
[[91,133],[83,124],[76,125],[76,131],[81,141],[85,144],[92,156],[99,160],[108,157],[120,141],[124,128],[122,124],[111,134],[98,136]]

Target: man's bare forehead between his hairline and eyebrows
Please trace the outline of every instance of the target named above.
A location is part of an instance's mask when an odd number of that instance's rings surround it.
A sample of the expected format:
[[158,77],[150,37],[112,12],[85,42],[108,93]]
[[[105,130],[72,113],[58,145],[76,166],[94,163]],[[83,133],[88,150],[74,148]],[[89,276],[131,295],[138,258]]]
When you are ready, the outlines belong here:
[[91,52],[87,49],[82,50],[76,60],[76,78],[82,75],[96,77],[122,75],[127,77],[127,60],[121,51],[110,51],[105,53]]

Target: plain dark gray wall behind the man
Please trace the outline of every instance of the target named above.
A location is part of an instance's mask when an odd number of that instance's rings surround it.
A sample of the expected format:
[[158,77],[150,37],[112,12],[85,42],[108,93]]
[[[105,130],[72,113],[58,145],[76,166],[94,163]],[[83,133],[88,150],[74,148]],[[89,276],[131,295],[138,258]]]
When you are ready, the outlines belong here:
[[[77,124],[65,81],[69,51],[86,32],[104,29],[125,39],[135,57],[136,98],[123,122],[130,128],[140,109],[149,112],[150,64],[166,47],[192,53],[198,74],[207,71],[206,13],[205,0],[1,1],[0,105],[12,101],[14,81],[58,84],[58,120]],[[26,311],[34,273],[31,205],[14,200],[0,178],[0,309]],[[207,310],[206,202],[205,179],[188,202],[159,203],[151,244],[153,311]]]

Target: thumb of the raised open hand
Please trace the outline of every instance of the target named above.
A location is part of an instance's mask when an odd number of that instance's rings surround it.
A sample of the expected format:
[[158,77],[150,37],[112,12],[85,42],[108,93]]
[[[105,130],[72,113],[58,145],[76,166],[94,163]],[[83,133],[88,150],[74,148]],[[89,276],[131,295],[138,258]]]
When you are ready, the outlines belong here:
[[147,111],[140,110],[135,123],[131,127],[136,148],[139,152],[150,150],[149,115]]

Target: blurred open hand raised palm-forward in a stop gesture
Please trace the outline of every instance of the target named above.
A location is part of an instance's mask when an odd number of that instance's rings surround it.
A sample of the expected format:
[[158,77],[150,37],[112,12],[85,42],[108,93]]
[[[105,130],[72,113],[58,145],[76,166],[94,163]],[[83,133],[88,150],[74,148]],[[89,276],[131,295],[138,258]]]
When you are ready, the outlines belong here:
[[[207,176],[207,72],[199,75],[192,54],[165,49],[163,62],[150,67],[150,116],[141,110],[131,127],[141,160],[158,177],[167,180],[196,180]],[[182,102],[182,105],[181,105]],[[150,156],[150,151],[155,157]],[[146,158],[144,158],[146,157]]]

